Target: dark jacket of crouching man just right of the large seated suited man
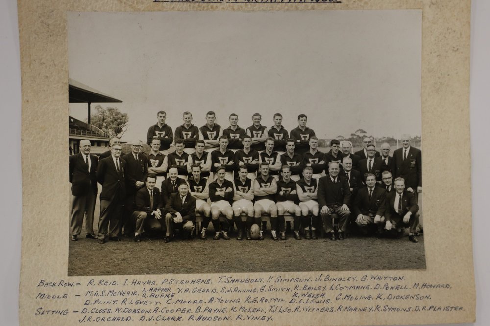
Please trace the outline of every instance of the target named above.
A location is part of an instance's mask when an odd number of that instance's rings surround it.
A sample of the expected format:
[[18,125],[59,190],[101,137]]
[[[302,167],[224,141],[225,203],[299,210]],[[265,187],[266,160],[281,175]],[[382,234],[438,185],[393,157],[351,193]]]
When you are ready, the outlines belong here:
[[369,199],[369,189],[364,187],[359,189],[352,212],[354,216],[363,215],[379,215],[384,216],[386,210],[386,191],[382,187],[375,186],[372,191],[371,199]]

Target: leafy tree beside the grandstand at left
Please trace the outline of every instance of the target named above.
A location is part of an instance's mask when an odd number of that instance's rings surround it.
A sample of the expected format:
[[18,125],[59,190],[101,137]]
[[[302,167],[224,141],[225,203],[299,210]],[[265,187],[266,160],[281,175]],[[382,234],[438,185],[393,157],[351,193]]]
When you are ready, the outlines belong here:
[[121,138],[127,130],[129,117],[127,113],[121,113],[118,108],[95,107],[95,113],[91,116],[91,124],[109,134],[109,137]]

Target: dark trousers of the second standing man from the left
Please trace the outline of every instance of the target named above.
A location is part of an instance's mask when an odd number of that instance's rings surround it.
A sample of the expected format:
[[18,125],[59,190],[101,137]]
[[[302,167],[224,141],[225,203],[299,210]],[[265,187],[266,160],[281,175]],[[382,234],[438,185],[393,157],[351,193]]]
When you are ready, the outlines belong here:
[[119,195],[115,195],[112,200],[100,200],[99,239],[105,239],[107,235],[118,236],[123,206],[123,200],[119,198]]

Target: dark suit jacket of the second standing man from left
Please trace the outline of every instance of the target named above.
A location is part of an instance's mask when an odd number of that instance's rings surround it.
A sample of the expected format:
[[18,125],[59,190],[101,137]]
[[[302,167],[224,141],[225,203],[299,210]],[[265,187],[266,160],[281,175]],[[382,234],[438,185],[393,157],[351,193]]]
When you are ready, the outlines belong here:
[[98,163],[97,181],[102,185],[100,200],[112,200],[116,195],[119,195],[121,200],[126,197],[126,161],[120,158],[119,162],[119,172],[116,170],[112,155]]

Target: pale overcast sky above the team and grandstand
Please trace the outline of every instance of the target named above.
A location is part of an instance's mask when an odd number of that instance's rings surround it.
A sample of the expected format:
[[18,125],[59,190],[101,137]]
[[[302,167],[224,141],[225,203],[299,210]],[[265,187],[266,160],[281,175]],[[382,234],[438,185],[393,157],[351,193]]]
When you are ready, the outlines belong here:
[[127,140],[146,140],[159,110],[173,130],[183,111],[200,127],[214,110],[224,127],[281,112],[321,138],[421,135],[419,10],[72,12],[68,41],[70,78],[123,101],[102,105],[128,113]]

